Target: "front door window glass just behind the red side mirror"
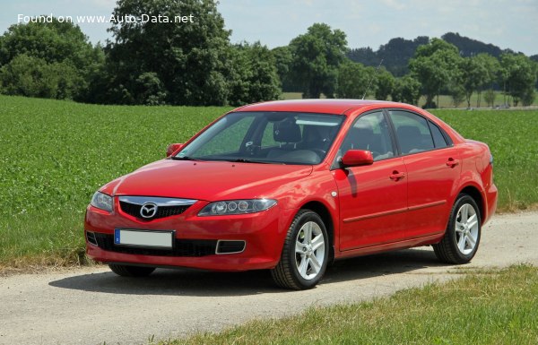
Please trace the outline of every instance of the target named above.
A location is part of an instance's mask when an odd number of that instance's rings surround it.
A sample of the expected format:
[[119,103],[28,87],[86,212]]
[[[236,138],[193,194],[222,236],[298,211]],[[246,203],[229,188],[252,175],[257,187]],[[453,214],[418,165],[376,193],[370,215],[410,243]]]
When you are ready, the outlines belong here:
[[340,147],[341,155],[348,150],[368,150],[374,160],[394,157],[390,131],[383,112],[360,116],[351,126]]

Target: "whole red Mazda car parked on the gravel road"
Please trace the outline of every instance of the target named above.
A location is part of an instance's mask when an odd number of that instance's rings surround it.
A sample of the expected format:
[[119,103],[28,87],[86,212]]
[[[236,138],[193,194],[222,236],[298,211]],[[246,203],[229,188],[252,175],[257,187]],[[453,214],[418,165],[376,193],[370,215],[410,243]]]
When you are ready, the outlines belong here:
[[249,105],[168,154],[88,206],[87,253],[119,275],[268,269],[308,289],[357,255],[431,245],[467,263],[497,204],[488,146],[401,103]]

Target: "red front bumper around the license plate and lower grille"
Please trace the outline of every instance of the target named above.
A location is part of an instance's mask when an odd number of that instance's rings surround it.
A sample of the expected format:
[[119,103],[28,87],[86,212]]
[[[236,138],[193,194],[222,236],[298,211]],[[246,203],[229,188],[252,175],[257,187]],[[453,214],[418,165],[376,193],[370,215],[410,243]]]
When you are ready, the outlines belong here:
[[[92,206],[88,206],[86,210],[84,235],[86,253],[91,259],[101,263],[188,267],[229,272],[273,268],[280,260],[284,238],[294,212],[282,210],[277,204],[269,210],[252,214],[198,217],[197,212],[206,204],[198,202],[183,214],[143,221],[119,211],[117,201],[115,203],[115,211],[111,213]],[[105,237],[111,236],[114,229],[174,230],[176,243],[211,244],[218,240],[236,240],[245,241],[246,245],[244,251],[235,254],[215,254],[207,248],[203,251],[160,254],[159,251],[151,250],[126,253],[128,251],[116,250],[114,245],[102,246],[98,243],[99,246],[96,246],[88,241],[88,232]]]

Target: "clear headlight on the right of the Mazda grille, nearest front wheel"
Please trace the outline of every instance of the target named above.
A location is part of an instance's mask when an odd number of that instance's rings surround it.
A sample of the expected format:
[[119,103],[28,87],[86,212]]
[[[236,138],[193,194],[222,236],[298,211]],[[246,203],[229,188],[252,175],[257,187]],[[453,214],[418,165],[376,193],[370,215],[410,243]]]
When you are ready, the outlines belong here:
[[228,214],[245,214],[265,211],[276,205],[276,200],[272,199],[250,199],[250,200],[229,200],[223,202],[210,203],[198,216],[223,216]]

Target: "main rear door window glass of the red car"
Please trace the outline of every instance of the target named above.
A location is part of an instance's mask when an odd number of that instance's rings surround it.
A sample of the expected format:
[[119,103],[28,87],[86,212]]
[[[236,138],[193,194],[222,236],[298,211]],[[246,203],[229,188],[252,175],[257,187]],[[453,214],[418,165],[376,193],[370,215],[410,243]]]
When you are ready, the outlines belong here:
[[428,120],[403,110],[391,110],[389,113],[402,154],[435,148]]

